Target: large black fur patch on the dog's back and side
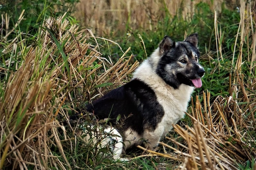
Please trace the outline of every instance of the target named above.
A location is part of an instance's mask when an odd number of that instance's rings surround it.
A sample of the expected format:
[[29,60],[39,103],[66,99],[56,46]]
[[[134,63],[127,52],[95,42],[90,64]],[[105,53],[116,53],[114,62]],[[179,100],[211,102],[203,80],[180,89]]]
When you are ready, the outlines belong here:
[[[131,128],[139,135],[144,129],[155,130],[164,116],[163,107],[157,102],[155,92],[144,82],[133,79],[116,88],[87,106],[87,111],[99,119],[110,118],[120,132]],[[117,117],[124,121],[120,127]]]

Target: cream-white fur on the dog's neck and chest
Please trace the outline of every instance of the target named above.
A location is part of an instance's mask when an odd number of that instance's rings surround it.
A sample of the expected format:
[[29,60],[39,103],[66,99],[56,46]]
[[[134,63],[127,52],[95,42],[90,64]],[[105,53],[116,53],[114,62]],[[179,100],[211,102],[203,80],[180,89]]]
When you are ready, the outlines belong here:
[[171,130],[172,125],[176,124],[184,116],[194,87],[181,84],[179,88],[175,89],[169,86],[153,71],[148,61],[144,61],[139,66],[134,73],[134,78],[145,82],[153,89],[157,101],[164,109],[164,117],[157,125],[155,131],[147,132],[145,130],[143,135],[146,139],[156,138],[156,140],[150,141],[154,146],[157,145],[156,143],[158,143],[159,138],[166,135]]

